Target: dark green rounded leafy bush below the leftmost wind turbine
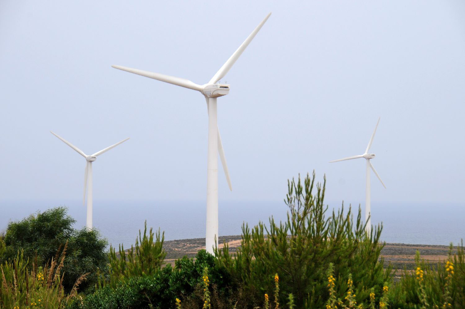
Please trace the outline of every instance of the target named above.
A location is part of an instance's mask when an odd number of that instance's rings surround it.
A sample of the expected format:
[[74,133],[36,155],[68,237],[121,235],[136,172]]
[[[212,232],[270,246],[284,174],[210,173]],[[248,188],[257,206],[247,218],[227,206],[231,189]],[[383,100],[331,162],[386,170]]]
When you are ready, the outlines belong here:
[[57,249],[62,249],[68,242],[62,282],[65,291],[69,292],[84,273],[89,273],[89,276],[80,288],[93,289],[98,270],[105,272],[108,267],[105,252],[107,242],[100,239],[97,230],[73,229],[75,222],[63,207],[38,212],[19,222],[10,222],[4,238],[5,249],[0,249],[0,252],[4,251],[0,255],[0,263],[12,260],[19,250],[23,250],[26,259],[35,261],[37,266],[45,266],[55,256]]

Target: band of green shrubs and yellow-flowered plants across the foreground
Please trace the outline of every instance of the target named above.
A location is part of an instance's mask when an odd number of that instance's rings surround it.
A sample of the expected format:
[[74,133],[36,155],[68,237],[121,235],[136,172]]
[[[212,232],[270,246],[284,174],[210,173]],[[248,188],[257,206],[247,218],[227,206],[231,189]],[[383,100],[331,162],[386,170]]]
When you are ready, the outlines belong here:
[[[73,230],[57,208],[10,223],[0,237],[0,308],[465,308],[463,244],[444,263],[416,256],[393,282],[382,226],[358,210],[327,213],[325,181],[288,181],[287,220],[242,227],[241,246],[165,264],[164,235],[139,234],[119,254]],[[79,293],[78,293],[79,291]]]

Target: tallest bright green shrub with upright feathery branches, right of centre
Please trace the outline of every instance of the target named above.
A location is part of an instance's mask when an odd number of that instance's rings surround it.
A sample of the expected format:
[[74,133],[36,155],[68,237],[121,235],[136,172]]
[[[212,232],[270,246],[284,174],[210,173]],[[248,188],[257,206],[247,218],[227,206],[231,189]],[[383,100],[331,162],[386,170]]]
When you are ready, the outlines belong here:
[[242,227],[242,241],[232,256],[228,246],[215,250],[219,267],[224,267],[237,286],[244,289],[248,306],[262,306],[265,294],[273,295],[274,277],[280,283],[279,302],[289,294],[298,308],[323,308],[329,297],[326,270],[334,265],[336,297],[343,298],[347,279],[352,273],[353,290],[358,303],[368,303],[370,289],[381,294],[383,284],[391,280],[391,271],[383,270],[379,243],[382,227],[370,235],[365,232],[359,209],[355,226],[352,211],[344,207],[325,218],[325,184],[316,184],[315,174],[301,183],[288,181],[287,221],[277,224],[271,217],[269,226],[259,223],[252,230]]

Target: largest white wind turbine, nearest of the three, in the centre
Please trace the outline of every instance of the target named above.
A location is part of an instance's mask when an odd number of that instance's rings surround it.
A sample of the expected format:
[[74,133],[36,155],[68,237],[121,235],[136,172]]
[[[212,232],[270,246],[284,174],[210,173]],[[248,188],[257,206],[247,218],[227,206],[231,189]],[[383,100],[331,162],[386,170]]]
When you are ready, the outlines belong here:
[[213,253],[213,246],[218,246],[218,157],[216,151],[219,152],[221,164],[225,171],[226,180],[229,190],[233,191],[231,180],[229,178],[229,171],[226,165],[225,152],[223,151],[223,144],[218,130],[218,114],[217,114],[217,98],[229,93],[228,84],[218,84],[226,73],[231,69],[239,56],[244,52],[246,47],[259,32],[260,28],[265,24],[266,20],[270,17],[269,13],[264,20],[252,31],[247,39],[239,46],[231,57],[225,62],[218,72],[213,75],[212,79],[204,85],[198,85],[190,80],[169,76],[160,73],[153,73],[142,71],[138,69],[129,68],[126,66],[113,66],[126,72],[139,74],[152,79],[157,79],[178,85],[181,87],[199,91],[206,99],[208,110],[208,155],[207,155],[207,184],[206,184],[206,237],[205,246],[207,252]]

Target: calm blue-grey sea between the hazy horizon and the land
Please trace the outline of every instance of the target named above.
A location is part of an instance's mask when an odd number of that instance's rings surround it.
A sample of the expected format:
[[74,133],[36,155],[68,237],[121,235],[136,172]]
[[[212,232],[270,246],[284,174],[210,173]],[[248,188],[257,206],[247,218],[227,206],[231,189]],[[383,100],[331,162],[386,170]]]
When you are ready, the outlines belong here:
[[[77,220],[86,223],[82,201],[0,201],[0,231],[9,221],[20,220],[37,210],[66,206]],[[329,203],[330,208],[340,203]],[[109,243],[125,248],[134,243],[139,229],[147,226],[165,231],[166,240],[205,237],[205,202],[94,201],[93,224]],[[219,235],[239,235],[242,222],[253,226],[286,218],[287,207],[277,202],[220,202]],[[363,216],[363,208],[362,208]],[[383,222],[382,240],[388,243],[457,244],[465,238],[465,203],[377,203],[372,202],[372,224]]]

